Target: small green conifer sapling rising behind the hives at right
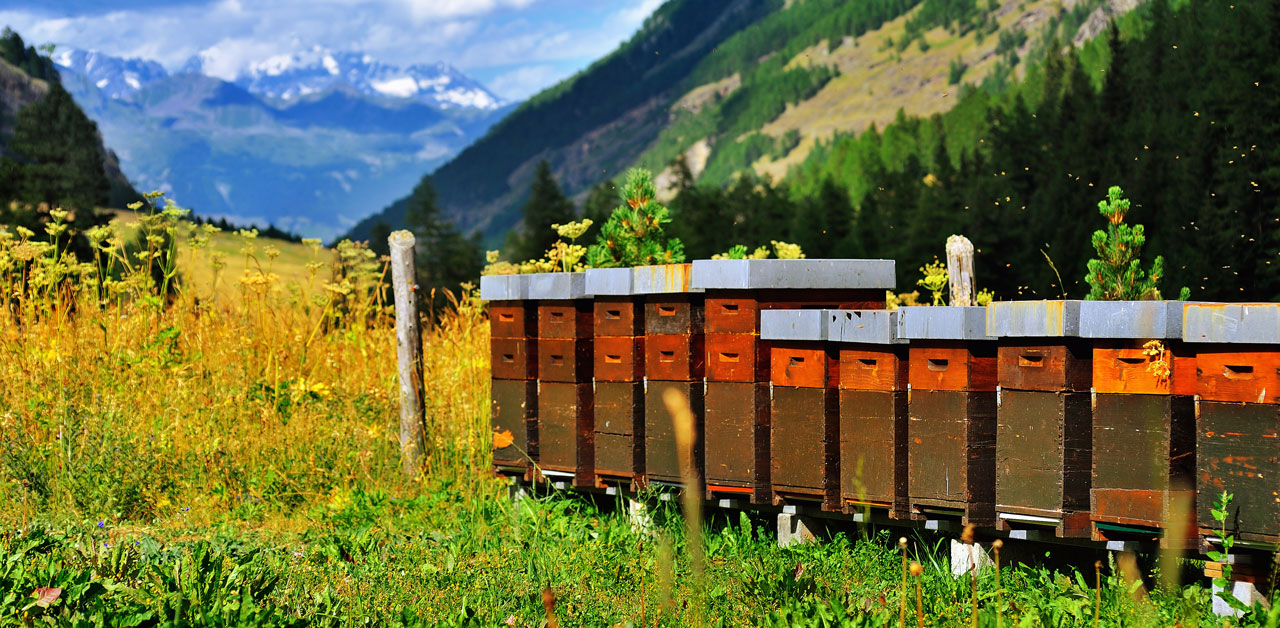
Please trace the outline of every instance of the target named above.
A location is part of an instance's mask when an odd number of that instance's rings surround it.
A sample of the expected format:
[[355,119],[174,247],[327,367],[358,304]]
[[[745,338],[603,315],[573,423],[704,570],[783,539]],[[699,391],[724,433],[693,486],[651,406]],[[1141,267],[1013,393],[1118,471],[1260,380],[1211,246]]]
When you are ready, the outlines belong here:
[[[1165,257],[1156,256],[1151,272],[1142,270],[1142,246],[1147,237],[1142,225],[1128,225],[1124,221],[1129,212],[1129,200],[1119,185],[1107,189],[1107,198],[1098,202],[1098,212],[1107,217],[1107,229],[1093,232],[1093,248],[1098,258],[1089,260],[1089,272],[1084,280],[1089,284],[1089,301],[1153,301],[1160,299],[1161,276],[1165,274]],[[1185,287],[1179,299],[1187,299]]]

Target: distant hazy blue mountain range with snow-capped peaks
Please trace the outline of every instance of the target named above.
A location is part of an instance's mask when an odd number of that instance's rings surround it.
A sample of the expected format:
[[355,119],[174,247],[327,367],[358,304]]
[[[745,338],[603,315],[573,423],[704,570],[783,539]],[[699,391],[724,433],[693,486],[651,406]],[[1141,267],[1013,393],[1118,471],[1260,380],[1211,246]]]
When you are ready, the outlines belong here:
[[312,49],[233,81],[96,51],[54,55],[140,189],[197,215],[333,238],[480,137],[511,105],[445,65]]

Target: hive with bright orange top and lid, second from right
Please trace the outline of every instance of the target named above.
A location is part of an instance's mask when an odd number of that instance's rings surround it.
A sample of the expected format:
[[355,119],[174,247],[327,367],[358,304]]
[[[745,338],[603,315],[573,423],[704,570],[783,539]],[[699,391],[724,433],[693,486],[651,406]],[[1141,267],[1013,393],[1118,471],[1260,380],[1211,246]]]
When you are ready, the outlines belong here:
[[1196,357],[1184,303],[1085,301],[1093,341],[1093,538],[1194,546]]

